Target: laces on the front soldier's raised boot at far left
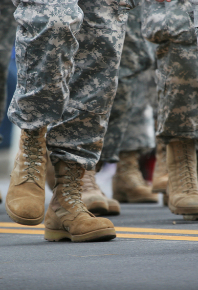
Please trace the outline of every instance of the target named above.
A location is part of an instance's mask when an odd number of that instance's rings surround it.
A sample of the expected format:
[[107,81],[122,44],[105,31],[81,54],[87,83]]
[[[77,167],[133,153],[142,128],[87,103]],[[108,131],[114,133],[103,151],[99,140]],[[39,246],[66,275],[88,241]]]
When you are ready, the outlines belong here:
[[[35,171],[40,173],[40,170],[37,168],[41,166],[41,160],[43,159],[44,150],[40,145],[42,142],[38,142],[37,137],[34,135],[34,132],[25,132],[27,138],[24,139],[24,145],[22,148],[24,149],[23,157],[26,158],[27,161],[24,162],[26,168],[22,169],[23,172],[27,171],[27,174],[23,176],[23,178],[28,177],[28,179],[39,180],[39,178],[34,175]],[[33,157],[32,157],[33,156]]]

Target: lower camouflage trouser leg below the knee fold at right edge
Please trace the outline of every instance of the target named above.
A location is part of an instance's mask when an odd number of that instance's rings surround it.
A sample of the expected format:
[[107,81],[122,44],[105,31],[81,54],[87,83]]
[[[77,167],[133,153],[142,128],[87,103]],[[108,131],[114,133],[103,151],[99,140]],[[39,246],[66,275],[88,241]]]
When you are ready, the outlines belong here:
[[168,43],[157,67],[157,137],[198,139],[197,43]]

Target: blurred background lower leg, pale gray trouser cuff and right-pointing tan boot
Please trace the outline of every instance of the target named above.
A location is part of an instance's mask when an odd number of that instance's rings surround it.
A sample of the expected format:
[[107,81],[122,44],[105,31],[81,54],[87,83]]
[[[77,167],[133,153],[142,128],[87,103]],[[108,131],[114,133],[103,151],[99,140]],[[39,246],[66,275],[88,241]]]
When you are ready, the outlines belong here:
[[133,107],[131,121],[120,146],[119,162],[112,180],[113,197],[120,202],[157,202],[152,187],[139,168],[140,154],[155,147],[151,106]]

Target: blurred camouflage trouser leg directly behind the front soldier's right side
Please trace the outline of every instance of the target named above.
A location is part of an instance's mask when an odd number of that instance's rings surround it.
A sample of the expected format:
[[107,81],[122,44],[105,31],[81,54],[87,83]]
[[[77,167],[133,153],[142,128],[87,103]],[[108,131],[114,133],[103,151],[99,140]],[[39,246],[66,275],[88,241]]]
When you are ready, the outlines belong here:
[[[152,64],[152,54],[141,35],[141,7],[129,14],[119,68],[119,82],[112,106],[101,160],[117,162],[134,107],[145,106],[147,81],[144,71]],[[152,48],[151,48],[152,51]]]

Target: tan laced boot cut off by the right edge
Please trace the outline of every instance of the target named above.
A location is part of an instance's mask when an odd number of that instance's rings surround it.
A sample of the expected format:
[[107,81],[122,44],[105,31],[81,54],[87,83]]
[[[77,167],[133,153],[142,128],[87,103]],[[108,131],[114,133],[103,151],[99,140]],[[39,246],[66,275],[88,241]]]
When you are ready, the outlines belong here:
[[182,215],[198,214],[197,156],[194,140],[167,145],[169,208]]

